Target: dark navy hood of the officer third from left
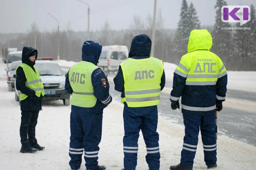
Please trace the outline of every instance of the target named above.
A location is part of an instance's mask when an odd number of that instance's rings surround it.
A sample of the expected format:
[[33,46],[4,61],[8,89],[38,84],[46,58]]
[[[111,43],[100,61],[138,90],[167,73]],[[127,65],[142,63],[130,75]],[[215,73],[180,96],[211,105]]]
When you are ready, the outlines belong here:
[[151,40],[145,34],[137,35],[131,41],[129,58],[134,56],[150,56]]

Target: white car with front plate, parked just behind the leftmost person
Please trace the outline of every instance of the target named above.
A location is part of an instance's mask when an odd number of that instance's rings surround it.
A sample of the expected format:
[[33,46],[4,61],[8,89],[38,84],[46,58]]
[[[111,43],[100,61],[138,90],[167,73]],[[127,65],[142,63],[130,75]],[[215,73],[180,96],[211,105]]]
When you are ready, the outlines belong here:
[[[36,60],[35,67],[38,69],[44,85],[43,100],[63,100],[64,105],[70,105],[70,94],[65,90],[66,77],[57,62],[52,60]],[[19,101],[19,93],[15,87],[15,100]]]

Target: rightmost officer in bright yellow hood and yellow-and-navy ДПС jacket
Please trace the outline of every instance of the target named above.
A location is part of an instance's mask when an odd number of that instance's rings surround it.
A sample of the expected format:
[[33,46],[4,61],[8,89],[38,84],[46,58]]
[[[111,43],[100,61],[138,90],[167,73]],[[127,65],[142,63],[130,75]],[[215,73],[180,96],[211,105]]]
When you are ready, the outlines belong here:
[[171,170],[192,170],[201,130],[207,168],[217,167],[215,112],[221,111],[227,91],[227,71],[221,59],[210,52],[212,37],[207,30],[192,30],[188,52],[180,59],[173,77],[172,109],[181,108],[185,125],[180,164]]

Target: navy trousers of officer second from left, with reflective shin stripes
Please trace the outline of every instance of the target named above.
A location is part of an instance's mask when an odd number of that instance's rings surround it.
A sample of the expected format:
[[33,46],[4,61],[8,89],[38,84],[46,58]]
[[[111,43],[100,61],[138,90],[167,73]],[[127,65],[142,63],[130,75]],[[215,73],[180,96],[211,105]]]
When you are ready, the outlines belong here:
[[98,167],[98,145],[102,137],[102,113],[79,112],[71,109],[70,133],[71,169],[78,169],[81,166],[84,153],[86,169],[95,170]]

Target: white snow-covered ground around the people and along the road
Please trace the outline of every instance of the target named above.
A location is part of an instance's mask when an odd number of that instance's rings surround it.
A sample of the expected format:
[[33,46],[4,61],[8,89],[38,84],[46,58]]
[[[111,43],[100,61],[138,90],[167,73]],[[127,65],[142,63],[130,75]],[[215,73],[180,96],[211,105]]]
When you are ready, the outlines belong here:
[[[59,63],[69,66],[73,62],[59,61]],[[167,80],[171,81],[176,66],[170,63],[164,65]],[[35,154],[20,153],[20,106],[15,102],[15,93],[8,92],[5,67],[6,65],[0,62],[0,170],[70,170],[68,150],[71,106],[64,106],[62,101],[44,102],[43,111],[38,118],[36,137],[39,144],[46,149]],[[228,75],[228,88],[256,91],[256,72],[230,71]],[[165,92],[170,93],[169,90],[166,88]],[[122,109],[123,105],[119,103],[119,99],[115,99],[104,110],[99,164],[104,164],[107,170],[120,170],[123,167]],[[170,165],[178,164],[180,161],[184,127],[174,120],[159,116],[158,133],[160,134],[160,170],[168,170]],[[218,136],[217,144],[217,170],[255,169],[256,147],[224,135]],[[137,170],[148,170],[145,154],[145,144],[140,135]],[[206,168],[199,136],[194,169]],[[84,161],[81,170],[85,170]]]

